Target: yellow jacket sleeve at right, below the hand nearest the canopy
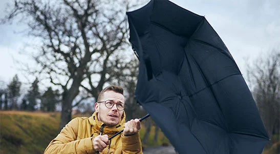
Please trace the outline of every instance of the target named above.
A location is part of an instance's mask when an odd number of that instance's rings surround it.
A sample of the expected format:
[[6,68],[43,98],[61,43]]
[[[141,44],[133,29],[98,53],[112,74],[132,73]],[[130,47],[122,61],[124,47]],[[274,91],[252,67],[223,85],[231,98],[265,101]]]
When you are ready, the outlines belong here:
[[143,153],[139,131],[132,136],[124,136],[121,133],[122,153]]

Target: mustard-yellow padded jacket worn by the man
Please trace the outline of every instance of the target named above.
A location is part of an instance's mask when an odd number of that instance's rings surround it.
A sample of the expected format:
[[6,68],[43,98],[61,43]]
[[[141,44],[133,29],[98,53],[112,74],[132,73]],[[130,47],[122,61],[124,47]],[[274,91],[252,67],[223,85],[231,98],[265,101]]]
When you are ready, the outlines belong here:
[[[124,129],[125,113],[122,120],[116,126],[104,125],[102,135],[107,134],[109,138],[116,132]],[[92,117],[75,118],[71,120],[51,141],[44,153],[97,153],[93,148],[93,139],[100,135],[101,126],[104,123],[97,120],[96,112]],[[101,153],[107,153],[107,146]],[[132,136],[118,136],[111,139],[108,153],[143,153],[139,132]]]

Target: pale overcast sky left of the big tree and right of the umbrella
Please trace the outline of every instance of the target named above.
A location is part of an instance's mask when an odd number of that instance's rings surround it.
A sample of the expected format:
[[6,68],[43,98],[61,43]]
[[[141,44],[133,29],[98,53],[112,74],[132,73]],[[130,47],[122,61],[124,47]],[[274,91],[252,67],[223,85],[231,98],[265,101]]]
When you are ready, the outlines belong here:
[[[7,0],[0,1],[0,17],[4,16]],[[279,0],[173,0],[175,4],[204,15],[238,64],[246,73],[245,58],[254,59],[273,48],[280,48]],[[23,25],[0,25],[0,81],[10,82],[12,77],[24,78],[14,59],[31,61],[18,54],[32,38],[19,33]]]

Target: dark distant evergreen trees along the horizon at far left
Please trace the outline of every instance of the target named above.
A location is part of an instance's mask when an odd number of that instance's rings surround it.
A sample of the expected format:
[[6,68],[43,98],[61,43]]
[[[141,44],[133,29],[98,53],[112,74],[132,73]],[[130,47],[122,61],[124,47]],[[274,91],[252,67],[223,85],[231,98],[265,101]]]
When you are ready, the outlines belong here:
[[0,87],[0,109],[55,111],[56,104],[59,103],[60,99],[59,91],[48,87],[45,92],[40,93],[38,83],[39,81],[36,78],[27,93],[21,92],[21,82],[15,75],[7,86],[2,85]]

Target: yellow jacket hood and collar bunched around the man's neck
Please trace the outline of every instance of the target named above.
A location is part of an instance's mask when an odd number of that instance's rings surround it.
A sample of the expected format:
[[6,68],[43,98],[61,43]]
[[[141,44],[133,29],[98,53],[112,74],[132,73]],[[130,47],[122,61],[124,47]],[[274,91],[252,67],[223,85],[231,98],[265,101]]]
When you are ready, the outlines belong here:
[[[104,124],[103,122],[98,121],[97,114],[98,114],[97,112],[93,112],[92,117],[89,118],[89,121],[92,125],[92,129],[94,130],[94,132],[100,132],[100,128]],[[107,126],[107,125],[104,124],[102,134],[107,134],[109,137],[111,137],[116,132],[119,132],[122,129],[124,129],[124,124],[125,124],[125,113],[123,111],[123,114],[121,116],[121,120],[117,125]]]

